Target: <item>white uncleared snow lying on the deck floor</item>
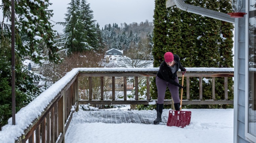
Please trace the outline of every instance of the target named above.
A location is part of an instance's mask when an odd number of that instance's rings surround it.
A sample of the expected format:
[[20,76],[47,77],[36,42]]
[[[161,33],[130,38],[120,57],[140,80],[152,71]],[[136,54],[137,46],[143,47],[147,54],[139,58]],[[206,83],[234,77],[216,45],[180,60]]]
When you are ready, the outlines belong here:
[[[104,111],[79,110],[73,116],[66,133],[67,143],[232,143],[233,109],[182,109],[191,111],[191,122],[184,128],[167,125],[102,122],[85,123],[89,114]],[[162,114],[168,115],[168,109]],[[143,112],[156,110],[116,110],[115,112]]]

